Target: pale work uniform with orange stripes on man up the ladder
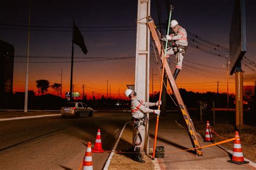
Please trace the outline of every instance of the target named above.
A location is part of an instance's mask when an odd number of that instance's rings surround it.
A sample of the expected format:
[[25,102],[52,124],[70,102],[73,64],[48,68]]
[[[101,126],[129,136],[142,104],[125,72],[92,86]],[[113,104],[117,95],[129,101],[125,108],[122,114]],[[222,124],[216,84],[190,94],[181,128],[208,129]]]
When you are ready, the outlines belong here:
[[[188,44],[187,32],[184,28],[181,27],[177,33],[172,33],[170,37],[172,37],[172,40],[174,40],[178,46],[178,53],[176,55],[176,68],[181,70],[183,58],[186,53],[187,44]],[[167,49],[166,56],[173,55],[173,54],[174,54],[173,48],[169,47],[169,49]],[[170,57],[167,57],[167,62],[169,65],[171,65]]]

